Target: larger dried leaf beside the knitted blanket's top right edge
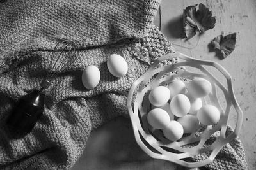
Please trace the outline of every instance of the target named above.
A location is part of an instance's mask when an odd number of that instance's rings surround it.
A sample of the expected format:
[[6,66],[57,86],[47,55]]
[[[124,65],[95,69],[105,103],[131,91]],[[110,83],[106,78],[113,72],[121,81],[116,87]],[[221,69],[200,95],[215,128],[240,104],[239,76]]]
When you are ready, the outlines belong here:
[[183,24],[186,38],[195,36],[196,31],[203,33],[214,28],[216,18],[204,4],[188,6],[183,11]]

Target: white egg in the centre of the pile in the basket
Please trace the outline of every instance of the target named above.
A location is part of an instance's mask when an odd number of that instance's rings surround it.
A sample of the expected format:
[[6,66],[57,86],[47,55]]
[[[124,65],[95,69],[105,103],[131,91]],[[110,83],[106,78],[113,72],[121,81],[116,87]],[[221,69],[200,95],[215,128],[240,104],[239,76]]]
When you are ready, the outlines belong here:
[[190,110],[190,101],[184,94],[177,94],[172,98],[170,109],[176,117],[183,117]]

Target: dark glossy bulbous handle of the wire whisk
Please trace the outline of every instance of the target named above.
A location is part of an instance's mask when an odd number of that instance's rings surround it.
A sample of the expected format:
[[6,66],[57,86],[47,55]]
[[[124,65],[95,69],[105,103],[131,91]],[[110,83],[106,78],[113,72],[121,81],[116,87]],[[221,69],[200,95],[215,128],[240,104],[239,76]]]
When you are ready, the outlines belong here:
[[20,97],[17,106],[7,119],[7,125],[22,134],[31,132],[44,111],[44,96],[42,90],[35,89]]

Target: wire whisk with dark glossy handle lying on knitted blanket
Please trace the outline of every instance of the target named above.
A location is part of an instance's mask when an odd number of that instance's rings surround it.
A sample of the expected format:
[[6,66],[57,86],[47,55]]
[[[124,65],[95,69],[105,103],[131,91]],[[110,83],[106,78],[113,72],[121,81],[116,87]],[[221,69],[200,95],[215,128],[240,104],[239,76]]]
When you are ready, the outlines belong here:
[[48,89],[51,79],[73,64],[78,56],[79,46],[73,41],[65,40],[58,43],[52,52],[47,76],[40,84],[41,89],[34,89],[20,97],[17,106],[7,119],[7,125],[22,134],[31,132],[44,111],[44,89]]

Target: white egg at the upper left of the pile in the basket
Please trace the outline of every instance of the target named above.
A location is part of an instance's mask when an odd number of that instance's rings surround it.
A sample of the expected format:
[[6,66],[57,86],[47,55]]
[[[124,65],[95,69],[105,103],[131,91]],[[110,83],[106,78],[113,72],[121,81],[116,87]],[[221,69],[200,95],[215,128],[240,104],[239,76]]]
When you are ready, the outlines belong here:
[[170,90],[165,86],[157,86],[150,91],[148,99],[154,106],[160,107],[168,102]]

